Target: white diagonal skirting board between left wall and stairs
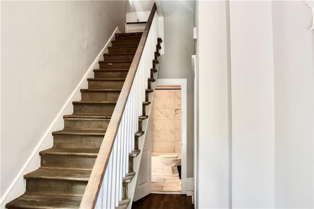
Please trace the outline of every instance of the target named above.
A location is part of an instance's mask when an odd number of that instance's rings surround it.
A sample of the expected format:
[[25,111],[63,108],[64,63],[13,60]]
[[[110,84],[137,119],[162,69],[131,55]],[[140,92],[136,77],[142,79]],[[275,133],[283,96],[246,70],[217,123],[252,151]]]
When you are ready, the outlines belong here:
[[[11,192],[11,190],[14,188],[14,186],[16,185],[16,183],[22,179],[23,181],[23,176],[26,172],[26,168],[27,166],[30,164],[30,162],[32,160],[34,160],[34,157],[37,157],[38,152],[40,151],[39,149],[41,148],[42,144],[44,143],[45,140],[47,140],[47,138],[51,138],[52,137],[48,137],[49,133],[51,133],[52,131],[54,131],[56,129],[56,127],[60,127],[60,122],[62,123],[61,126],[63,126],[63,114],[66,111],[66,108],[68,107],[68,105],[72,105],[72,101],[74,101],[75,95],[77,95],[77,93],[79,93],[79,89],[84,85],[84,81],[87,82],[87,79],[90,73],[93,73],[93,69],[94,67],[98,64],[98,61],[100,60],[100,58],[103,56],[103,53],[105,51],[105,49],[108,47],[108,45],[110,44],[111,40],[114,38],[114,34],[115,33],[121,33],[121,30],[119,29],[119,27],[116,27],[115,30],[113,31],[112,35],[110,36],[110,38],[108,39],[107,43],[105,44],[105,47],[102,49],[102,51],[97,55],[97,57],[95,58],[95,60],[93,61],[93,63],[90,65],[90,67],[88,68],[88,70],[86,71],[86,73],[84,74],[84,76],[81,78],[81,80],[79,81],[77,87],[74,89],[74,91],[72,92],[72,94],[69,96],[69,98],[66,100],[66,102],[63,104],[62,108],[60,109],[60,111],[58,112],[58,114],[56,115],[56,117],[53,119],[52,123],[50,124],[50,126],[48,127],[48,129],[45,131],[45,133],[43,134],[43,136],[40,138],[39,142],[37,143],[36,147],[33,149],[32,153],[30,154],[30,156],[27,158],[26,162],[24,163],[23,167],[21,168],[21,170],[19,171],[19,173],[16,175],[16,177],[14,178],[13,182],[9,185],[9,187],[6,189],[6,191],[3,193],[3,195],[0,198],[0,205],[1,208],[4,206],[2,206],[2,204],[4,203],[4,201],[6,200],[7,196],[9,195],[9,193]],[[61,118],[61,120],[60,120]],[[37,160],[40,160],[40,158],[37,158]],[[40,161],[37,163],[37,165],[40,164]],[[37,168],[34,168],[37,169]],[[25,185],[24,185],[25,188]],[[9,200],[8,200],[9,201]]]

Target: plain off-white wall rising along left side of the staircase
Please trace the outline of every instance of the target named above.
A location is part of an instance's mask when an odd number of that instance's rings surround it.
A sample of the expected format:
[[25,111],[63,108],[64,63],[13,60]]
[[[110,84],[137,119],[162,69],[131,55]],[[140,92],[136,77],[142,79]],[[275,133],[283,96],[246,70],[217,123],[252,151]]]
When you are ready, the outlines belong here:
[[1,195],[125,14],[125,1],[1,2]]

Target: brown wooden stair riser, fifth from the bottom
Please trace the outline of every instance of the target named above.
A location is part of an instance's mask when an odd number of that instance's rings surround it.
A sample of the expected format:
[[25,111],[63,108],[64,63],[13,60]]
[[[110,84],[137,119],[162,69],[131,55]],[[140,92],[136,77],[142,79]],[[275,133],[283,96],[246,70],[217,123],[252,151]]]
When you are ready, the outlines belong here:
[[115,104],[74,104],[74,114],[110,115]]

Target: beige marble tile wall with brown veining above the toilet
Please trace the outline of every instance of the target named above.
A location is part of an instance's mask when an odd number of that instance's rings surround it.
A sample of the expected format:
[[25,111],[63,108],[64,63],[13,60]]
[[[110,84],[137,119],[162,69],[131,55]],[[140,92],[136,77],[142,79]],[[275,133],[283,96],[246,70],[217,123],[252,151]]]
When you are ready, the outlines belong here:
[[181,90],[156,89],[152,151],[181,153]]

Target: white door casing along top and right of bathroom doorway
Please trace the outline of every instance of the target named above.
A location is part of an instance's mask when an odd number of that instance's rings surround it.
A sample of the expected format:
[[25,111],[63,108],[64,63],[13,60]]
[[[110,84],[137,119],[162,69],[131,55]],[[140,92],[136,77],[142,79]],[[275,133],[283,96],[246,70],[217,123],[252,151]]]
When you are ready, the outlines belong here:
[[181,191],[186,194],[186,111],[187,111],[187,79],[186,78],[165,78],[157,79],[156,85],[181,85],[181,129],[182,129],[182,150],[181,150]]

